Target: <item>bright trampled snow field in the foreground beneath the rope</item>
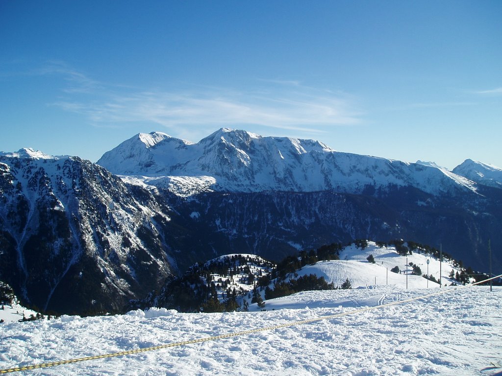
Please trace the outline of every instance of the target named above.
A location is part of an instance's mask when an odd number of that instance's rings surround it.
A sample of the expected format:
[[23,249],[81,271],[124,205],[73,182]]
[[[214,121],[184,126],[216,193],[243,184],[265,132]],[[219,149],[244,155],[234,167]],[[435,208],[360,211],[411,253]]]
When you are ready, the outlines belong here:
[[[0,368],[113,353],[350,312],[308,324],[22,374],[395,375],[502,374],[502,288],[405,290],[379,286],[303,292],[267,301],[265,312],[165,309],[0,325]],[[251,307],[250,307],[251,308]]]

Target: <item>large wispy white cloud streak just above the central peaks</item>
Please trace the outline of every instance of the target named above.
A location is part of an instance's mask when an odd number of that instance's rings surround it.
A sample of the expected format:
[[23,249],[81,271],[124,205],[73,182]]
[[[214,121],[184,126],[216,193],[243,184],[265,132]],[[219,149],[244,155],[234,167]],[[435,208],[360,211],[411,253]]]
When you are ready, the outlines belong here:
[[328,126],[356,124],[360,117],[351,98],[305,87],[297,81],[257,80],[252,90],[215,87],[135,90],[105,85],[63,64],[54,64],[43,73],[61,74],[68,82],[64,98],[53,105],[85,115],[97,125],[131,122],[166,128],[260,125],[323,132]]

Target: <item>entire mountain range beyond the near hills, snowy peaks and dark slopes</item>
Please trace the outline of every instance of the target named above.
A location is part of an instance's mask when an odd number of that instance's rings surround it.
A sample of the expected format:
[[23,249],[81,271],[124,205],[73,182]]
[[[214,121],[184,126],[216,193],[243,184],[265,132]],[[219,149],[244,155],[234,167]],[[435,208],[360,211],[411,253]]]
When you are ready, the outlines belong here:
[[237,252],[278,261],[354,239],[442,244],[483,271],[490,239],[500,269],[500,172],[230,129],[198,143],[140,133],[97,164],[0,153],[0,280],[40,310],[93,313],[197,261]]

